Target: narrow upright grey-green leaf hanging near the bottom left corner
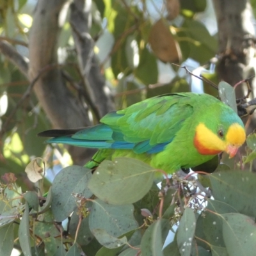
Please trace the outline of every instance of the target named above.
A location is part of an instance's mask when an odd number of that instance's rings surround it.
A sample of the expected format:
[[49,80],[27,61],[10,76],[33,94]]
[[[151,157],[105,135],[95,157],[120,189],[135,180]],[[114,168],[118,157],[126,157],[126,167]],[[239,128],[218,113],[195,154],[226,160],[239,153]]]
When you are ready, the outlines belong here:
[[29,207],[28,202],[25,202],[25,211],[23,212],[22,219],[19,226],[19,242],[20,247],[25,256],[32,256],[30,235],[29,235]]

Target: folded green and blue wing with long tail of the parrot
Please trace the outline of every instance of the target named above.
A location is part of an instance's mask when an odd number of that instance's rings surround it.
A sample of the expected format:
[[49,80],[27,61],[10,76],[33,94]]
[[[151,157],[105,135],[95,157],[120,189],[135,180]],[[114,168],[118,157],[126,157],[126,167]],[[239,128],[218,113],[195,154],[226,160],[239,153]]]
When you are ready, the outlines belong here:
[[[79,147],[130,149],[137,154],[154,154],[164,150],[179,132],[184,120],[193,115],[195,93],[170,93],[138,102],[126,109],[105,115],[102,124],[86,127],[74,134],[72,130],[45,131],[51,136],[47,143],[65,143]],[[68,133],[68,131],[70,131]],[[62,136],[66,135],[66,136]]]

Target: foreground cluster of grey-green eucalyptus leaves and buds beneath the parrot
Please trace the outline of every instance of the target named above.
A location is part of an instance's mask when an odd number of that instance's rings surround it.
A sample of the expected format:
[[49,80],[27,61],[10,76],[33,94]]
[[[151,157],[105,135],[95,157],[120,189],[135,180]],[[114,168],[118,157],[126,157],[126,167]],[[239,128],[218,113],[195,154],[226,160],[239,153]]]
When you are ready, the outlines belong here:
[[253,255],[254,173],[208,175],[213,200],[189,175],[173,175],[159,188],[155,172],[127,157],[104,161],[93,173],[68,166],[47,196],[22,193],[15,177],[6,175],[1,255],[10,255],[13,246],[24,255]]

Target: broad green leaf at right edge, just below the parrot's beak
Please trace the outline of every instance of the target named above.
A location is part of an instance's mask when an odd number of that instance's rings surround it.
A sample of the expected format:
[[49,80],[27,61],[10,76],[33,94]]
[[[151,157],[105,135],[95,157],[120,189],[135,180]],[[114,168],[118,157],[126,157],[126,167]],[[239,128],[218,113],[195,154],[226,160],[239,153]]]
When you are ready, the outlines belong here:
[[232,170],[209,175],[215,200],[230,205],[237,212],[256,215],[255,173]]

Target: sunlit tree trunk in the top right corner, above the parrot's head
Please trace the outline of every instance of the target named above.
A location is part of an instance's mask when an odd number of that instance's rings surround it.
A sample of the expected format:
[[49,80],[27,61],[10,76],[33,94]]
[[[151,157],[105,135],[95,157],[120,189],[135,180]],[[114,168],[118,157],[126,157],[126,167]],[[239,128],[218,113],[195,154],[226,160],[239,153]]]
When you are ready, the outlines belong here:
[[249,0],[213,0],[213,3],[218,22],[218,75],[234,86],[255,75],[252,6]]

